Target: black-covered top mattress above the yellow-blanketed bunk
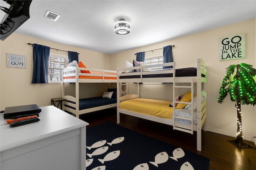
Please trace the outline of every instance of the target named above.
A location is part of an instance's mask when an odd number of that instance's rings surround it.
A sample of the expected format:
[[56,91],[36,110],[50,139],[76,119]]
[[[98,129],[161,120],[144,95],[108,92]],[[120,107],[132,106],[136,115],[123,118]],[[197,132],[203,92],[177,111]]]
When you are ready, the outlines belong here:
[[[142,75],[142,78],[156,78],[156,77],[172,77],[172,73],[169,74],[157,74],[156,71],[152,71],[154,74],[146,74]],[[124,73],[125,74],[125,73]],[[178,68],[175,70],[175,76],[176,77],[191,77],[196,76],[196,68],[194,67],[188,67],[188,68]],[[134,76],[120,76],[120,79],[122,78],[140,78],[140,75],[134,75]]]

